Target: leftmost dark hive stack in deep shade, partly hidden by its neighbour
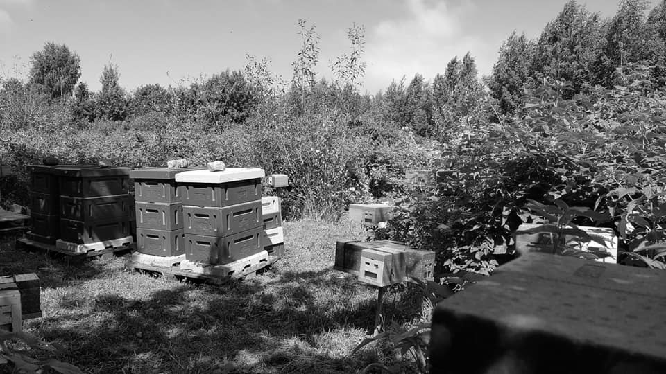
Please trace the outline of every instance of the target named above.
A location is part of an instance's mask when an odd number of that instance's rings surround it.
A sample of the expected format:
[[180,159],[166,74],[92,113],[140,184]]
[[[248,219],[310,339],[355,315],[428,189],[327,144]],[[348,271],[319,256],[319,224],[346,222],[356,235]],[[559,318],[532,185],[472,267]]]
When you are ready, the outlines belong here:
[[28,165],[32,224],[31,230],[26,233],[26,238],[44,244],[56,244],[56,240],[60,238],[60,186],[58,175],[54,171],[69,167],[74,165]]

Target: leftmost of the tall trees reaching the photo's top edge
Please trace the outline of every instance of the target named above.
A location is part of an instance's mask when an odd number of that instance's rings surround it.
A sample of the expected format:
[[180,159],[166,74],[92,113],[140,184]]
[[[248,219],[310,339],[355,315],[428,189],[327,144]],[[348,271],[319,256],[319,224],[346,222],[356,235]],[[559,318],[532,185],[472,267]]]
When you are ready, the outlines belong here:
[[592,78],[600,37],[599,15],[570,0],[545,26],[536,44],[532,66],[535,78],[566,80],[579,91],[583,82]]

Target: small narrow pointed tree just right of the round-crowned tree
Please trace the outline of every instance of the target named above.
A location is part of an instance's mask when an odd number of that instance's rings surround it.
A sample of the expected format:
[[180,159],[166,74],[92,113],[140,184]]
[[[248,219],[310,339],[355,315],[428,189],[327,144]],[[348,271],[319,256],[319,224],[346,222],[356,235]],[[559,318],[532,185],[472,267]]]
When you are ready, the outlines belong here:
[[125,91],[118,81],[120,73],[118,66],[105,64],[99,82],[102,89],[96,100],[97,117],[111,121],[123,121],[127,116],[127,100]]

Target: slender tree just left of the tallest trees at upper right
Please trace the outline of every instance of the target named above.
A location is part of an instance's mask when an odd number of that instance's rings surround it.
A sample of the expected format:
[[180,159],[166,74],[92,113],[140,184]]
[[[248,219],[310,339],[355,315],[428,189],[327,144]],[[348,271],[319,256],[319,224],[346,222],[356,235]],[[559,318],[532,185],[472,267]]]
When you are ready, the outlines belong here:
[[522,96],[531,74],[533,49],[534,42],[524,33],[519,36],[515,31],[499,48],[499,57],[488,82],[490,95],[499,102],[499,114],[513,115],[524,105]]

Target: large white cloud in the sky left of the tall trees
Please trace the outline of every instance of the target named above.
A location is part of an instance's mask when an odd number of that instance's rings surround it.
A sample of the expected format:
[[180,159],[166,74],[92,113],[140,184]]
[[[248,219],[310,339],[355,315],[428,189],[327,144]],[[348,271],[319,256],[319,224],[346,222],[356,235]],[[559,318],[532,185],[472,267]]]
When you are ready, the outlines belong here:
[[[403,75],[407,83],[416,73],[432,80],[454,56],[461,58],[468,51],[477,56],[488,49],[466,30],[465,17],[475,8],[470,1],[409,0],[406,5],[404,17],[381,21],[369,34],[364,58],[368,91],[385,89]],[[478,59],[477,66],[483,73],[485,66],[479,66]]]

